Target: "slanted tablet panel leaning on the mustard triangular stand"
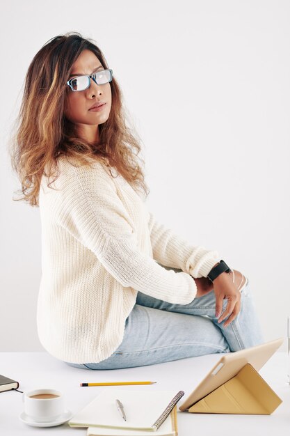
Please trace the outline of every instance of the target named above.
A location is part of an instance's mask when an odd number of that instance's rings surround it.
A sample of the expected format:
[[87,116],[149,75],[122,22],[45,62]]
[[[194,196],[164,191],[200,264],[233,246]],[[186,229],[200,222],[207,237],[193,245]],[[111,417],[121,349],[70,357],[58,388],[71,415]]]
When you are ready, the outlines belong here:
[[256,371],[259,371],[280,345],[282,345],[283,341],[284,338],[278,338],[274,341],[256,345],[255,347],[223,354],[223,357],[221,357],[214,368],[209,371],[202,382],[198,384],[198,387],[196,387],[190,396],[186,398],[184,403],[179,406],[179,410],[182,412],[188,410],[197,401],[234,377],[246,364],[252,365]]

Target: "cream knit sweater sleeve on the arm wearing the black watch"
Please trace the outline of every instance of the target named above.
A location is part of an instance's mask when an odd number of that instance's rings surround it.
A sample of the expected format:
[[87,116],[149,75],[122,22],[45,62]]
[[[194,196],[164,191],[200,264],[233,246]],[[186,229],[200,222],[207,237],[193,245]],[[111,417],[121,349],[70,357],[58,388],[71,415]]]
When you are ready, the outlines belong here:
[[207,277],[209,271],[218,262],[216,250],[207,250],[202,246],[193,246],[179,235],[156,221],[148,211],[148,227],[153,250],[153,258],[161,265],[191,274],[198,279]]

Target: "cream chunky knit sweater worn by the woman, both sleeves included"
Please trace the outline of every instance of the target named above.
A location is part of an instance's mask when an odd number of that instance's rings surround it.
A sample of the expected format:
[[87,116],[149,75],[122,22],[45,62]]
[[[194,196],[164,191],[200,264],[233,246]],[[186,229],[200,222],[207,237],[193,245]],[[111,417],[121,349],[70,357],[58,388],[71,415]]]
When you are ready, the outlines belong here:
[[156,222],[115,169],[112,177],[101,162],[76,168],[64,158],[59,167],[55,189],[45,176],[40,187],[38,336],[58,359],[99,362],[122,342],[138,291],[188,304],[192,277],[206,277],[219,256]]

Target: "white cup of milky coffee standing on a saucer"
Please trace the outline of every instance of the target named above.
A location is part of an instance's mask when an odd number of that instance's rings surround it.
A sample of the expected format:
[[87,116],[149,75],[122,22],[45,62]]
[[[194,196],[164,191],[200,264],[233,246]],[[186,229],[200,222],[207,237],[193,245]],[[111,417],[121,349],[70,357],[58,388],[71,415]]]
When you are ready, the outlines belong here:
[[34,389],[22,396],[24,412],[38,422],[53,422],[65,412],[63,393],[56,389]]

